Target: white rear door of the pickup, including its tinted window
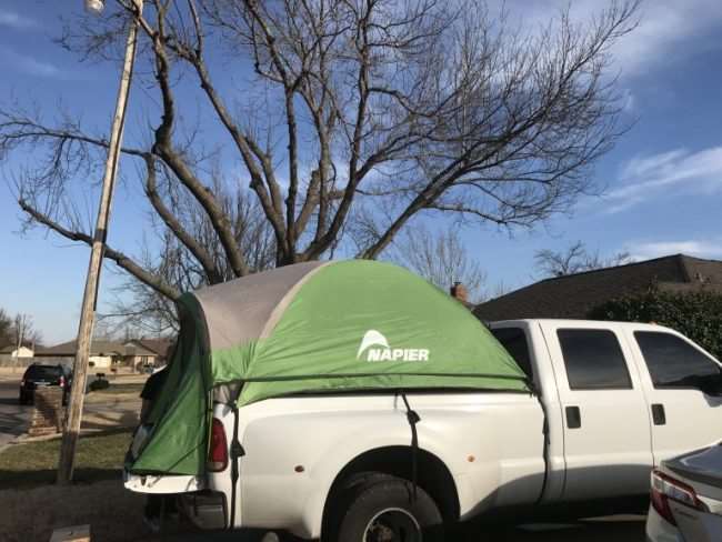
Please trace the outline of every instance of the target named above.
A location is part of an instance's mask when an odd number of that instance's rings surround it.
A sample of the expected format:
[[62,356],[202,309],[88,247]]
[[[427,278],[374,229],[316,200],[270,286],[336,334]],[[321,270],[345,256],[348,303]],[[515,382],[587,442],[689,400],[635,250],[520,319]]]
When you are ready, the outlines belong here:
[[650,419],[636,365],[614,328],[544,323],[564,420],[564,500],[649,491]]

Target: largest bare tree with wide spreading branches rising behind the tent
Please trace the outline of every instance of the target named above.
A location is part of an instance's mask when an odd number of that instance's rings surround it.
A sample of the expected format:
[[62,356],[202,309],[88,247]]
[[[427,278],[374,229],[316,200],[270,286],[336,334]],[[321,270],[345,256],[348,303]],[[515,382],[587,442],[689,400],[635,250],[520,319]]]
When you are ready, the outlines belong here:
[[[223,189],[250,189],[272,263],[284,265],[348,253],[350,234],[355,255],[377,258],[419,214],[532,227],[596,190],[590,168],[624,131],[610,49],[634,28],[638,0],[584,22],[561,11],[529,31],[481,0],[146,3],[141,17],[117,0],[101,22],[73,21],[60,42],[113,60],[138,19],[140,72],[159,113],[133,127],[142,136],[123,149],[124,164],[138,164],[146,205],[174,238],[161,254],[181,247],[207,283],[258,269],[213,184],[209,161],[219,157]],[[243,78],[240,89],[229,90],[221,66]],[[0,108],[0,160],[21,149],[32,157],[14,177],[28,225],[90,244],[78,193],[107,147],[77,116]],[[157,190],[160,177],[172,189]],[[179,193],[210,245],[173,204]],[[111,247],[106,258],[168,299],[192,283],[169,281],[157,258]]]

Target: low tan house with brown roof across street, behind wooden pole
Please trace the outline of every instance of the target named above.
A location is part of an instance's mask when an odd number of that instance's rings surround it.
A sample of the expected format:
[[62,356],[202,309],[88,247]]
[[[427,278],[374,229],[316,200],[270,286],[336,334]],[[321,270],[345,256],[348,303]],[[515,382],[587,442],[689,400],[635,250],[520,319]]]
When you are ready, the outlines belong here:
[[[72,363],[76,358],[76,341],[68,341],[54,347],[46,348],[36,352],[36,358],[41,358],[48,362],[67,362]],[[138,343],[128,341],[121,343],[117,341],[107,341],[96,339],[90,345],[89,362],[96,369],[110,369],[113,365],[127,365],[133,370],[139,370],[144,365],[154,365],[159,355]]]

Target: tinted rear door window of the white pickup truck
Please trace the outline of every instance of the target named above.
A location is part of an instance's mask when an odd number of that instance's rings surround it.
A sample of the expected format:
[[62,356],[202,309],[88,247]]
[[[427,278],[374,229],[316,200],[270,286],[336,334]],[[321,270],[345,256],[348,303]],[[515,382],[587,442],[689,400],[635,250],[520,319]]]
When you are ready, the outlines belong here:
[[570,390],[631,390],[624,354],[610,330],[556,330]]

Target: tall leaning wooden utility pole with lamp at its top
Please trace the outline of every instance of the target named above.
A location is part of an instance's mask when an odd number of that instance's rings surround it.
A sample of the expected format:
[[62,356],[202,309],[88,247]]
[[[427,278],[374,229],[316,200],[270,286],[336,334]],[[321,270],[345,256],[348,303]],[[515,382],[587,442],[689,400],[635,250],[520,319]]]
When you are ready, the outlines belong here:
[[[143,8],[143,0],[133,0],[138,17]],[[87,7],[96,12],[100,11],[103,3],[99,0],[87,0]],[[88,277],[86,279],[86,291],[78,327],[78,340],[76,343],[76,361],[73,364],[73,381],[70,389],[70,401],[68,404],[68,416],[62,434],[60,446],[60,461],[58,463],[58,484],[67,484],[72,481],[72,473],[76,462],[76,446],[80,433],[82,419],[82,406],[86,398],[86,382],[88,380],[88,359],[90,357],[90,343],[92,340],[93,324],[96,321],[96,305],[98,302],[98,285],[100,270],[102,267],[106,239],[108,238],[108,223],[110,219],[110,203],[113,195],[118,162],[120,160],[120,147],[123,138],[123,126],[126,123],[126,110],[130,93],[130,82],[136,61],[136,46],[138,42],[138,17],[133,17],[128,31],[126,43],[126,60],[118,89],[118,101],[116,116],[113,117],[110,142],[108,144],[108,159],[103,174],[103,185],[96,221],[96,233],[93,235],[90,263],[88,264]]]

